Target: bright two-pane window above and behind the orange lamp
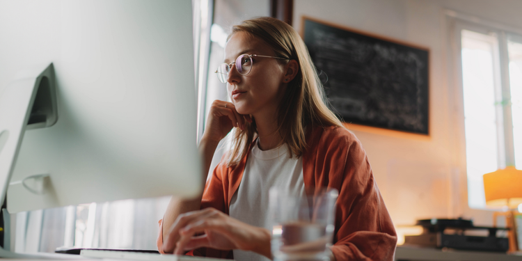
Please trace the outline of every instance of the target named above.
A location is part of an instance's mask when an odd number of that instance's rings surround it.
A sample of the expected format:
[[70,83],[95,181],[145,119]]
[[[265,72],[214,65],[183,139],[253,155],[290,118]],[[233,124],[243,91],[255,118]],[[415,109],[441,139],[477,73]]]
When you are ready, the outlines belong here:
[[457,30],[468,205],[484,209],[482,175],[522,166],[522,36],[477,24]]

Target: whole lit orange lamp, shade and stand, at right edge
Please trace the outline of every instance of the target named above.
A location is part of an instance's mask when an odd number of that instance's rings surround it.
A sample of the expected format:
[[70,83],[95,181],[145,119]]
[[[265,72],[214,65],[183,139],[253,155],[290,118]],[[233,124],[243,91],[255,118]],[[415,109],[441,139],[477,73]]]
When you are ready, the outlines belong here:
[[[522,171],[514,166],[508,166],[492,173],[484,174],[484,194],[486,205],[496,207],[509,207],[515,209],[522,204]],[[516,240],[516,225],[514,210],[493,213],[493,226],[496,226],[498,216],[506,217],[507,228],[509,228],[509,252],[519,250]]]

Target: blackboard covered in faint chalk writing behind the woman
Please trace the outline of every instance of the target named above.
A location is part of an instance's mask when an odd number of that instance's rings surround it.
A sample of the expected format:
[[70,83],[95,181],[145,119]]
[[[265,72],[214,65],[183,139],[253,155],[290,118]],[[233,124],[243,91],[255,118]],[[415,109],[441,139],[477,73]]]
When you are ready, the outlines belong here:
[[[344,122],[429,134],[429,51],[303,18],[303,38]],[[319,72],[320,72],[319,71]]]

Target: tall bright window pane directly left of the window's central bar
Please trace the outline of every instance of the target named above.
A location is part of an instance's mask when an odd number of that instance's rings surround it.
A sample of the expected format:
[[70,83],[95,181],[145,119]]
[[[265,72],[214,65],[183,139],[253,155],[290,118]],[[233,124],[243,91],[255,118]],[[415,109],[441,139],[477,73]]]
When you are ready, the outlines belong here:
[[498,143],[491,35],[462,31],[462,81],[468,205],[484,208],[482,175],[497,170]]

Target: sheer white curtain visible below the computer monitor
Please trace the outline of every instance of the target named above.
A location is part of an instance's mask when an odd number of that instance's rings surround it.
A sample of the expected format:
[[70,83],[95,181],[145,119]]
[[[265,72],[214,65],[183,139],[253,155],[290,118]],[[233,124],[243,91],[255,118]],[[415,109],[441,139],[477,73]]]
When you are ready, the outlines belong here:
[[155,250],[157,222],[168,200],[170,197],[118,200],[13,214],[14,250],[24,253],[52,253],[59,247]]

